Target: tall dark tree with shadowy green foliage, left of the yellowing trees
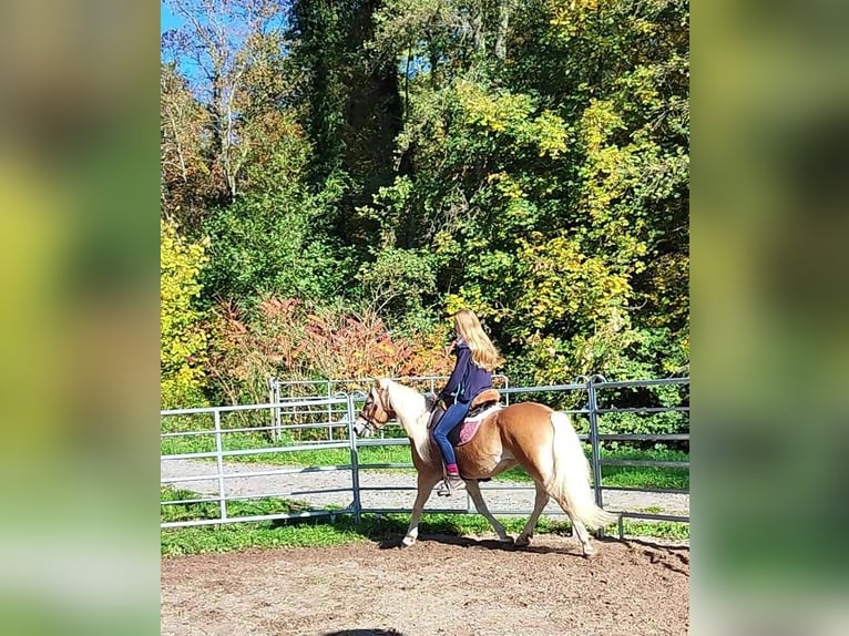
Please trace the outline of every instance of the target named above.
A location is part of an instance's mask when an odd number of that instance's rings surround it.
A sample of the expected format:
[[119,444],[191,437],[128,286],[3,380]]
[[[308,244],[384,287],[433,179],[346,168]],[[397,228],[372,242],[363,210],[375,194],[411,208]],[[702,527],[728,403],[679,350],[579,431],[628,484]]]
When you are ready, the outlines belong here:
[[364,54],[379,0],[297,0],[291,12],[293,64],[304,69],[304,126],[315,154],[316,184],[345,183],[335,232],[367,244],[371,226],[355,209],[395,176],[401,102],[395,60]]

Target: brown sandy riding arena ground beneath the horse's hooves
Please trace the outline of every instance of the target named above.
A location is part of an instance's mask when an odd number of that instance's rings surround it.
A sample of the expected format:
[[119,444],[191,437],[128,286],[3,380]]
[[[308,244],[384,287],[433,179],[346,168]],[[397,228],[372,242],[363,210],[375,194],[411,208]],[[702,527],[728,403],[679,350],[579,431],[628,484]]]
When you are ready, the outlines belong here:
[[544,535],[526,550],[422,536],[166,558],[165,636],[683,635],[689,550]]

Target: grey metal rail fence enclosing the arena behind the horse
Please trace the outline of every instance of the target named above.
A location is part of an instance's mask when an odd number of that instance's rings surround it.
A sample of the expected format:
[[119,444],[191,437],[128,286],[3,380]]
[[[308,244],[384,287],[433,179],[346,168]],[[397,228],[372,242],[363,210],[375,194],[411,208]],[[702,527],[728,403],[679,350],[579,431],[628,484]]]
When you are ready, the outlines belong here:
[[[603,466],[654,466],[686,469],[688,461],[648,461],[604,458],[605,444],[676,443],[688,445],[689,433],[610,432],[622,428],[622,418],[646,428],[643,418],[674,417],[688,431],[688,378],[608,382],[601,376],[582,377],[570,384],[511,388],[499,379],[503,401],[534,400],[570,413],[580,435],[590,447],[593,489],[599,505],[616,493],[687,495],[684,489],[643,489],[602,483]],[[419,382],[423,392],[433,392],[442,377],[403,378]],[[359,388],[354,388],[358,383]],[[415,499],[415,471],[409,462],[379,461],[377,448],[408,444],[399,425],[387,427],[382,438],[358,439],[354,420],[365,400],[367,380],[321,382],[316,397],[285,394],[295,382],[269,381],[275,398],[267,404],[176,409],[161,412],[162,455],[161,527],[286,520],[364,513],[409,513]],[[306,383],[293,392],[304,390]],[[336,391],[344,388],[345,391]],[[307,387],[306,390],[314,390]],[[659,394],[658,393],[664,393]],[[643,403],[648,402],[648,403]],[[663,414],[663,416],[662,416]],[[683,423],[686,419],[686,425]],[[616,422],[620,422],[616,424]],[[651,428],[651,427],[648,427]],[[368,451],[366,449],[369,449]],[[313,465],[303,453],[318,452]],[[287,462],[289,453],[301,453]],[[362,461],[361,454],[374,461]],[[398,469],[401,469],[400,471]],[[528,516],[533,507],[533,486],[493,480],[481,486],[495,515]],[[463,501],[464,499],[464,501]],[[431,497],[429,504],[437,500]],[[295,502],[295,503],[293,503]],[[442,503],[442,502],[440,502]],[[612,510],[623,519],[689,522],[686,514],[666,514],[643,507]],[[200,511],[200,512],[198,512]],[[466,497],[451,497],[426,512],[474,513]],[[551,504],[549,516],[563,515]],[[624,535],[620,521],[620,536]]]

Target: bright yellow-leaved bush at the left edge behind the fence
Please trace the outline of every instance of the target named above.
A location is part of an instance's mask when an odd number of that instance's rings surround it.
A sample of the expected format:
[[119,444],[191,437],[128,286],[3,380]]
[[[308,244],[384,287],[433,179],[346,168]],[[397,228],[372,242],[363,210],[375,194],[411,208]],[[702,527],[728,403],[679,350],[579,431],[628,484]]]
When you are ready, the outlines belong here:
[[176,225],[160,220],[160,391],[163,408],[203,406],[207,337],[193,300],[207,242],[188,243]]

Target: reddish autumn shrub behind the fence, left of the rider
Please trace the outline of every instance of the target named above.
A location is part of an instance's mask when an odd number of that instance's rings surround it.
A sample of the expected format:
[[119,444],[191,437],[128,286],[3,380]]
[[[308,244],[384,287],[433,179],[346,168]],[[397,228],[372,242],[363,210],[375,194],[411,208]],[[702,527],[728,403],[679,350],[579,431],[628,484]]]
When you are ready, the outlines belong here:
[[310,311],[293,298],[268,298],[254,319],[221,304],[212,325],[211,389],[231,403],[264,403],[268,378],[285,380],[442,376],[448,326],[392,336],[374,312]]

